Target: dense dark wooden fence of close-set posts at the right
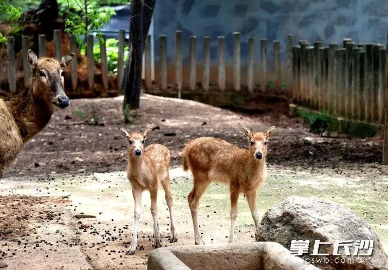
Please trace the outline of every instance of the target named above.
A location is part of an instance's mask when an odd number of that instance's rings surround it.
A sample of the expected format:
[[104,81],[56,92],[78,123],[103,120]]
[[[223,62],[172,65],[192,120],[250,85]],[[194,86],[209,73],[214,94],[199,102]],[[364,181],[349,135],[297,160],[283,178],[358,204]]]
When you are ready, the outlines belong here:
[[305,40],[292,47],[292,98],[312,109],[384,123],[387,48],[343,39],[323,47]]

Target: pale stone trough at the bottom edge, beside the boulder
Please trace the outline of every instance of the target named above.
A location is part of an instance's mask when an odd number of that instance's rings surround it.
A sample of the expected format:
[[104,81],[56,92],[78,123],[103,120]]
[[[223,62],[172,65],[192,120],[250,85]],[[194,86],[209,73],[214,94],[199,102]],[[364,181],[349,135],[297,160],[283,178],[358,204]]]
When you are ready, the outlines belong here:
[[152,251],[148,270],[317,270],[275,242],[176,246]]

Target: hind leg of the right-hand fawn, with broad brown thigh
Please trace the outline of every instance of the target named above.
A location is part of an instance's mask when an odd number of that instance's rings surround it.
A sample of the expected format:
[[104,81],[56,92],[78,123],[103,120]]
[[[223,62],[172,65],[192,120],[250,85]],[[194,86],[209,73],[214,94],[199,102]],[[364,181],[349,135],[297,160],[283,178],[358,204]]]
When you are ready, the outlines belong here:
[[193,218],[194,225],[194,239],[196,245],[204,245],[205,243],[201,239],[201,235],[199,233],[199,223],[198,223],[198,205],[199,199],[201,198],[203,192],[205,192],[207,186],[209,185],[208,179],[199,178],[194,175],[194,188],[187,196],[187,200],[189,201],[189,206],[191,210],[191,216]]

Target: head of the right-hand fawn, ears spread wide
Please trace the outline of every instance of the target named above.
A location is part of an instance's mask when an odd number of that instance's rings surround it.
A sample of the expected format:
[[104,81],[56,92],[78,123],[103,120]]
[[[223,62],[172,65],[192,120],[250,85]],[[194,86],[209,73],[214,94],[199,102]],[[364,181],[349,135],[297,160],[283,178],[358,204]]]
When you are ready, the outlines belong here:
[[267,156],[268,140],[274,135],[275,127],[270,127],[265,132],[252,132],[248,127],[242,126],[249,142],[249,152],[255,159],[265,159]]

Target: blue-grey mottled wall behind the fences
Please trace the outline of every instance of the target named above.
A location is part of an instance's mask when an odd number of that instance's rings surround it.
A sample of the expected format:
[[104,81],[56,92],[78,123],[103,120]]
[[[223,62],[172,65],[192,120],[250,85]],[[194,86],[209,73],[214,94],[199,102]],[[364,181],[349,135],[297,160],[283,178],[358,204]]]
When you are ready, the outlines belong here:
[[[204,35],[211,37],[211,59],[217,59],[217,36],[226,37],[226,57],[232,58],[232,32],[241,32],[242,63],[246,61],[247,39],[268,38],[269,61],[272,41],[282,44],[285,60],[285,38],[294,34],[294,43],[307,39],[310,44],[322,40],[342,42],[349,37],[356,42],[386,43],[388,0],[158,0],[154,11],[156,56],[159,34],[167,34],[168,61],[174,57],[176,30],[183,32],[184,60],[188,57],[188,39],[197,35],[197,57],[202,58]],[[158,57],[156,57],[158,61]]]

